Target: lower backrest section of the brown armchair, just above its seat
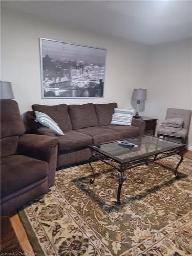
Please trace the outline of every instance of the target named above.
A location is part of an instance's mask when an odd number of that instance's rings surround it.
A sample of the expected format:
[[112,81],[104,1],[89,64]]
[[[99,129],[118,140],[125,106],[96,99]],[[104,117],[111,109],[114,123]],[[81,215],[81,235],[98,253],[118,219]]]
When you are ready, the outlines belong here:
[[18,136],[1,139],[1,157],[11,156],[17,153]]

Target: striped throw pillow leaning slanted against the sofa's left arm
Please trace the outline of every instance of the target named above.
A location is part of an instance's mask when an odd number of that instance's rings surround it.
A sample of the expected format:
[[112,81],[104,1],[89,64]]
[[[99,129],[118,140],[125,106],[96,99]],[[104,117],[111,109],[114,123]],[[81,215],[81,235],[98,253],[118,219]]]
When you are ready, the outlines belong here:
[[35,115],[36,115],[36,119],[35,119],[36,122],[39,122],[45,127],[48,127],[49,129],[53,130],[57,135],[65,135],[62,132],[62,130],[59,128],[57,123],[53,119],[51,119],[51,117],[39,111],[35,111]]

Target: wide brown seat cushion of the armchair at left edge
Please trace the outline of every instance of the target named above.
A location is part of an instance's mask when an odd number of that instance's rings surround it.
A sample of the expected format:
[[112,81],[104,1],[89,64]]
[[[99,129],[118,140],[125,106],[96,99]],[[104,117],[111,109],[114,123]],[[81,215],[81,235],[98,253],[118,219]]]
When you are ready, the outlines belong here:
[[47,174],[47,162],[22,155],[2,157],[1,196],[44,179]]

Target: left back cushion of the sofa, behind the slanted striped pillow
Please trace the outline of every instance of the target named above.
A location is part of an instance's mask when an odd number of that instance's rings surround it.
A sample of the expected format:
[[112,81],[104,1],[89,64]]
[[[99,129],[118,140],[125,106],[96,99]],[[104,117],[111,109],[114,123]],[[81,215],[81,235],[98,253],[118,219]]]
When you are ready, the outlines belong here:
[[66,104],[55,106],[32,105],[32,109],[33,111],[39,111],[50,116],[64,133],[72,130],[68,106]]

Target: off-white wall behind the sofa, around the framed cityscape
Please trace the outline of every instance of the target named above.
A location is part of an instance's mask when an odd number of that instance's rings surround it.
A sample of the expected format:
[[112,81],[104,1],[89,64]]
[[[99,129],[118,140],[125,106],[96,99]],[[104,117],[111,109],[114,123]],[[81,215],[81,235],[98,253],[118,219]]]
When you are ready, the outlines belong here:
[[[39,37],[107,49],[104,98],[41,99]],[[145,76],[147,47],[65,28],[37,17],[2,9],[2,80],[12,82],[20,111],[32,104],[56,105],[117,102],[130,107],[133,88]]]

